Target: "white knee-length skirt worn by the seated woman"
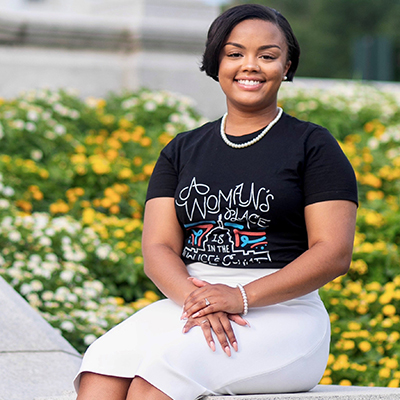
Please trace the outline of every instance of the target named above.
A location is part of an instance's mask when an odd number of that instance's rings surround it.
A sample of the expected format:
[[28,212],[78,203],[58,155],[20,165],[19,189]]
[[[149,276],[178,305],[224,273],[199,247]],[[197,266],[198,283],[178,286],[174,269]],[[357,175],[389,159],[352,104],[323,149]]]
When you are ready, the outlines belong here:
[[[194,263],[191,276],[236,286],[276,272]],[[272,306],[251,308],[249,327],[232,323],[239,351],[228,357],[215,340],[208,347],[200,327],[183,334],[182,308],[157,301],[97,339],[86,351],[82,372],[140,376],[173,400],[203,395],[301,392],[318,384],[329,355],[328,313],[314,291]]]

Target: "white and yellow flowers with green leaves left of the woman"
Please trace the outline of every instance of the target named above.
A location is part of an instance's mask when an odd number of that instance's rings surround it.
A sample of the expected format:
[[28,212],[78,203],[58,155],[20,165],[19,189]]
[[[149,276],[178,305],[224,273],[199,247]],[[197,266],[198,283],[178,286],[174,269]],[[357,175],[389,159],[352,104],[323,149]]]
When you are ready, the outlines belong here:
[[190,99],[144,89],[0,104],[0,273],[77,349],[158,298],[141,256],[146,188],[164,145],[200,123]]

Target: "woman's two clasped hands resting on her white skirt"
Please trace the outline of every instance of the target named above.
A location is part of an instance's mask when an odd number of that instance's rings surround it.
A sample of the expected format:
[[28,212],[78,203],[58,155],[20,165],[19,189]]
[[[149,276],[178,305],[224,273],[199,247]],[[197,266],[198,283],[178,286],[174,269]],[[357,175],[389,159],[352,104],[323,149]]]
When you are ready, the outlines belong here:
[[186,298],[183,305],[182,319],[187,320],[183,333],[194,326],[200,326],[212,351],[215,343],[214,331],[224,352],[230,357],[231,347],[238,351],[238,344],[232,329],[231,321],[241,326],[250,326],[240,316],[243,311],[243,298],[239,288],[223,284],[210,284],[201,279],[188,278],[198,289]]

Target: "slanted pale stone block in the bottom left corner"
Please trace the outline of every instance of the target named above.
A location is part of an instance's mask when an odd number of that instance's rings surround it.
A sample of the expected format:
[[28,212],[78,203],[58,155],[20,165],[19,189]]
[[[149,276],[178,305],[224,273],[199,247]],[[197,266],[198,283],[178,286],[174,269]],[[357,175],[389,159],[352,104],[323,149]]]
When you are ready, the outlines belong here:
[[73,390],[80,354],[0,277],[0,400]]

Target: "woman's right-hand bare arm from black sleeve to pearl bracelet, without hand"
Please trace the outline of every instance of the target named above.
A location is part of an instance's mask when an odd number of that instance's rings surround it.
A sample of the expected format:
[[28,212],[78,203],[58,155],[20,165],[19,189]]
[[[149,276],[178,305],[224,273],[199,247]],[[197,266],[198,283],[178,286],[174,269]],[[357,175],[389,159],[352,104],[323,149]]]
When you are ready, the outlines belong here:
[[353,251],[356,205],[327,201],[306,207],[309,249],[275,274],[245,286],[250,307],[293,299],[347,272]]

